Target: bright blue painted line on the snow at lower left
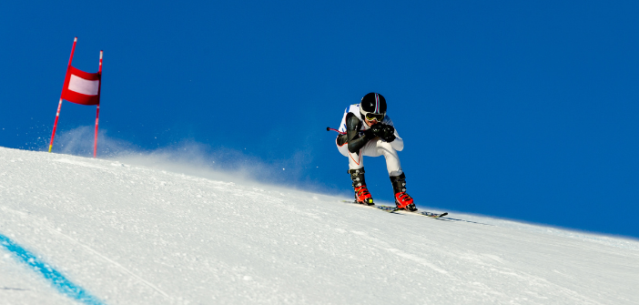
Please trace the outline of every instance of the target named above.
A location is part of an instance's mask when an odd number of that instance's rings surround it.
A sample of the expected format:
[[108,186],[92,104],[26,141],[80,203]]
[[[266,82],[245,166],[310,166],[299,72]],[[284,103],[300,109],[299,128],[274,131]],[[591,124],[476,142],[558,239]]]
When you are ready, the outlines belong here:
[[86,290],[83,290],[81,287],[77,286],[70,280],[66,280],[65,276],[63,276],[56,269],[53,269],[49,264],[40,259],[37,259],[34,254],[20,247],[13,240],[5,237],[2,234],[0,234],[0,245],[15,254],[15,257],[19,261],[24,262],[35,272],[40,273],[42,276],[44,276],[46,280],[49,280],[49,282],[51,282],[56,290],[60,291],[67,297],[90,305],[104,304],[101,300],[86,292]]

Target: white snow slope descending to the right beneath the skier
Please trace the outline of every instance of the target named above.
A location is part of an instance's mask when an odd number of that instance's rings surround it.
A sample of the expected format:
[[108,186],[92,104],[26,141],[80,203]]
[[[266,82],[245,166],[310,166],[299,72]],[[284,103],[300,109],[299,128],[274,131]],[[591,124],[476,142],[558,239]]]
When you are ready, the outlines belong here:
[[637,240],[342,199],[0,147],[0,303],[639,303]]

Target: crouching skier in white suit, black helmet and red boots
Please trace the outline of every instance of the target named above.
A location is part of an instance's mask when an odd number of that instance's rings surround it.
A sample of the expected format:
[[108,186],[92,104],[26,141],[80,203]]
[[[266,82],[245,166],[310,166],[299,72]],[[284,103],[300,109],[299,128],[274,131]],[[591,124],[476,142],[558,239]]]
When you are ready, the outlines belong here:
[[361,98],[360,104],[347,107],[339,131],[340,136],[335,141],[340,153],[349,158],[355,200],[360,204],[374,204],[366,188],[362,157],[384,156],[397,208],[417,210],[411,196],[406,194],[406,176],[397,155],[404,148],[404,141],[395,130],[391,117],[386,115],[386,99],[371,92]]

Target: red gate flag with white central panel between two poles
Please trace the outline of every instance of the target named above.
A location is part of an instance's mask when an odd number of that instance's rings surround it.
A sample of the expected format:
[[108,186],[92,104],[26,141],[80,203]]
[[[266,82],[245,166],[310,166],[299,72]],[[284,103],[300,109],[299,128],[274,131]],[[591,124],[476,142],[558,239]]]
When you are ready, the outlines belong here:
[[66,69],[65,86],[62,98],[81,105],[100,104],[100,76],[98,73],[87,73],[73,66]]

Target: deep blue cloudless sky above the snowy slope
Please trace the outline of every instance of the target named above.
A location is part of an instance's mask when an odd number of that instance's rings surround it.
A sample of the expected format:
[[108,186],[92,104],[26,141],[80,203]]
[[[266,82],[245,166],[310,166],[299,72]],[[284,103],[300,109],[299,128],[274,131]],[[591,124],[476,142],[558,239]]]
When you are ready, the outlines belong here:
[[[376,91],[418,206],[639,237],[638,2],[390,3],[5,1],[0,146],[46,149],[77,36],[77,68],[105,50],[99,156],[198,147],[350,196],[325,128]],[[94,119],[65,102],[54,151]]]

